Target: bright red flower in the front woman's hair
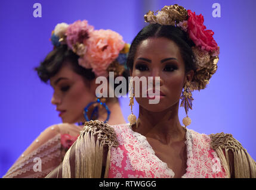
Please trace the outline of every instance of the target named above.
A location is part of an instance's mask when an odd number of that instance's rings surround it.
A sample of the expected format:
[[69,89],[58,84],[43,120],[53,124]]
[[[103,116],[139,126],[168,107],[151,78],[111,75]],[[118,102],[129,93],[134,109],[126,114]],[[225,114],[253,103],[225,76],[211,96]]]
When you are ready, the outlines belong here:
[[214,32],[212,30],[206,30],[206,27],[203,25],[203,15],[196,15],[191,10],[187,10],[187,14],[189,15],[187,32],[195,45],[207,52],[218,50],[218,45],[212,37]]

